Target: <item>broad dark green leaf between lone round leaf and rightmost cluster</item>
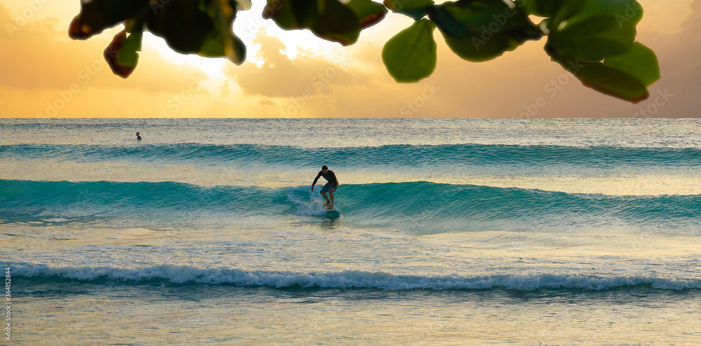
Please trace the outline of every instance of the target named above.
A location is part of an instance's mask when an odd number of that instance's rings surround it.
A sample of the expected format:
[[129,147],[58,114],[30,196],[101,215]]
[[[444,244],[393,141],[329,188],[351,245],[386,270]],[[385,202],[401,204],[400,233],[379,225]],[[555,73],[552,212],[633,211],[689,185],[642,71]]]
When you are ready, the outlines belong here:
[[448,2],[434,6],[429,18],[449,48],[472,62],[494,59],[543,36],[524,11],[501,0]]

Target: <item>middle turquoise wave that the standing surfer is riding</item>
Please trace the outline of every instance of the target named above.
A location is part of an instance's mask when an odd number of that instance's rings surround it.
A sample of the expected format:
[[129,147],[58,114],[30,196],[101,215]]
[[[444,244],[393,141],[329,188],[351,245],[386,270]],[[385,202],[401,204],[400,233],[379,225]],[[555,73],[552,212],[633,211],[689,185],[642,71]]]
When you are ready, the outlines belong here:
[[[701,195],[610,196],[434,184],[341,185],[336,205],[344,221],[400,227],[423,233],[456,230],[522,230],[634,224],[701,226]],[[318,189],[202,187],[173,182],[0,180],[0,219],[82,216],[138,219],[168,216],[321,216]]]

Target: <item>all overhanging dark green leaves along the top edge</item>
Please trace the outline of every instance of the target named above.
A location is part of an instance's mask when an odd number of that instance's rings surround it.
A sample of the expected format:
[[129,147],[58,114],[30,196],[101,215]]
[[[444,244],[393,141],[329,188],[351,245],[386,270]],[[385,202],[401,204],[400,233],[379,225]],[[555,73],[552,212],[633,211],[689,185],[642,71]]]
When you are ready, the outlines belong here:
[[[163,37],[179,53],[245,60],[246,48],[231,30],[247,0],[82,1],[69,35],[88,39],[124,25],[104,51],[112,71],[128,77],[138,63],[144,30]],[[433,74],[438,29],[447,46],[470,62],[484,62],[547,36],[545,51],[584,85],[640,102],[658,81],[655,53],[635,41],[643,15],[636,0],[266,0],[263,17],[282,29],[308,29],[343,46],[389,11],[414,19],[390,39],[382,60],[395,81],[414,83]],[[536,24],[531,18],[542,18]]]

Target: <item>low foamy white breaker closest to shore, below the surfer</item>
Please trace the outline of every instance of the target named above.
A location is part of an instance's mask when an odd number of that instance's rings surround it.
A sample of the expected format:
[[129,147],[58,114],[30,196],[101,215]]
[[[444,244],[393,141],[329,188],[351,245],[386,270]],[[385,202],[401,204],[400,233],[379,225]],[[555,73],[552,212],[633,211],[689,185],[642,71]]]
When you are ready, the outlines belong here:
[[150,281],[163,279],[174,284],[234,284],[237,286],[269,286],[274,288],[310,287],[321,289],[585,289],[602,291],[624,286],[647,285],[653,289],[701,289],[700,279],[655,276],[590,276],[590,275],[397,275],[388,272],[343,270],[339,272],[290,272],[241,270],[238,268],[202,268],[193,265],[152,265],[142,268],[53,266],[40,263],[15,265],[14,275],[22,277],[62,277],[93,281]]

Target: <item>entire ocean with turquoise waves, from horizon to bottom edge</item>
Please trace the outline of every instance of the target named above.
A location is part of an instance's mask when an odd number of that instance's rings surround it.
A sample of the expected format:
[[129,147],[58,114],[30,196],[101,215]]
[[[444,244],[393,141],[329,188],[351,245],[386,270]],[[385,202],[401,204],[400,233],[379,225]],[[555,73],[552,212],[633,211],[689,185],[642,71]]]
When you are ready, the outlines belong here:
[[4,342],[701,345],[700,134],[0,119]]

